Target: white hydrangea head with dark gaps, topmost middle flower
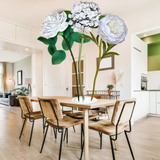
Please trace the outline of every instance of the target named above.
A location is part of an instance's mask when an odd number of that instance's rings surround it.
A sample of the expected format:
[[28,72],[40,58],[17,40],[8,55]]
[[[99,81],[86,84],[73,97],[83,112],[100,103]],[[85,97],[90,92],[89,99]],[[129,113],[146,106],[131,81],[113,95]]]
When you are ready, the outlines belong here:
[[88,33],[91,32],[91,26],[98,26],[99,16],[101,15],[98,4],[94,2],[76,2],[69,14],[69,24],[77,32],[79,29]]

